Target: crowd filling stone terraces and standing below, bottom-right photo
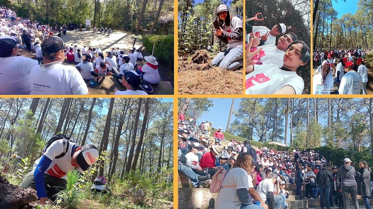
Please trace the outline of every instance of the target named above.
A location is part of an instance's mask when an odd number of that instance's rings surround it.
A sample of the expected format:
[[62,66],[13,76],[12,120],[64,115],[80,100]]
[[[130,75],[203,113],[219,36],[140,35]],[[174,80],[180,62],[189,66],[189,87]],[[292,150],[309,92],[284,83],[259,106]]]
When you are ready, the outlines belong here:
[[[357,195],[361,195],[366,209],[370,208],[371,169],[364,160],[358,163],[359,170],[355,171],[349,158],[338,167],[313,148],[278,151],[254,148],[250,141],[236,139],[222,147],[221,142],[225,140],[222,128],[215,131],[209,121],[196,125],[195,118],[185,118],[183,113],[178,120],[178,171],[196,188],[213,184],[211,179],[221,168],[227,171],[217,193],[216,209],[228,206],[237,209],[280,209],[282,206],[286,209],[289,196],[286,186],[289,184],[296,185],[295,195],[301,199],[320,198],[322,209],[348,209],[349,195],[355,209],[358,209]],[[213,131],[214,139],[209,138]]]

